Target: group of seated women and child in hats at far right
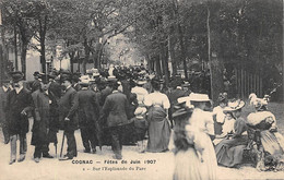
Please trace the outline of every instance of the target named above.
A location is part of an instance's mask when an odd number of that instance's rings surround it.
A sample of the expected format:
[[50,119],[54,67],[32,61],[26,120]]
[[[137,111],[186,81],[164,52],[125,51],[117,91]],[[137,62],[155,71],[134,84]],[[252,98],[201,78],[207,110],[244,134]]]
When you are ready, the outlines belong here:
[[218,165],[239,167],[247,156],[258,170],[283,170],[284,139],[276,130],[275,116],[268,110],[268,99],[251,94],[249,104],[255,111],[244,119],[245,101],[227,103],[220,96],[220,106],[213,110],[215,124],[222,125],[213,141]]

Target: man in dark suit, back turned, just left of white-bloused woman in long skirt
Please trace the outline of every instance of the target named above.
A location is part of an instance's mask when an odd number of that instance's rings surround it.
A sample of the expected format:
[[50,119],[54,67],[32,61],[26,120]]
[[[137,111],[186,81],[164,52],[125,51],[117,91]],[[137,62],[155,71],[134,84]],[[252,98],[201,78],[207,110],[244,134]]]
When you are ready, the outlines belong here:
[[113,93],[106,97],[103,107],[103,117],[107,120],[107,125],[111,133],[111,147],[115,153],[114,158],[121,159],[123,128],[128,123],[129,103],[127,96],[118,92],[118,83],[111,80]]

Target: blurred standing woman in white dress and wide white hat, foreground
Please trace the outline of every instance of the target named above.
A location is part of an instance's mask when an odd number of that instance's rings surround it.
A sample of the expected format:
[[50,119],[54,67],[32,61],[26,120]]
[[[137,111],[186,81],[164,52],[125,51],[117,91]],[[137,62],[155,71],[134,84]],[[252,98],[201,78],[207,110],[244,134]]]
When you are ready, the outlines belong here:
[[191,93],[188,101],[194,109],[185,125],[186,148],[175,156],[174,179],[216,179],[217,163],[210,139],[214,134],[213,118],[211,112],[204,111],[210,98]]

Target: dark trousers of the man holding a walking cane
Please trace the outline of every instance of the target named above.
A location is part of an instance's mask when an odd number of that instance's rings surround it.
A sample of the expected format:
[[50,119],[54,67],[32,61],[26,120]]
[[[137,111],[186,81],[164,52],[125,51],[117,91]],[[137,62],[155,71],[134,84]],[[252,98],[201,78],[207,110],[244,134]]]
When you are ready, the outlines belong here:
[[70,158],[76,157],[76,140],[74,130],[66,130],[67,137],[67,156]]

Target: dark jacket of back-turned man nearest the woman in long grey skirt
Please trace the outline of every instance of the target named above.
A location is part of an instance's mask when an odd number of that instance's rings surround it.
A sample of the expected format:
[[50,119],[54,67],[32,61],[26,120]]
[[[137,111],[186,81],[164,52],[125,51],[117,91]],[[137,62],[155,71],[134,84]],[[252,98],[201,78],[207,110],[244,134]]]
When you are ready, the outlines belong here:
[[117,91],[108,95],[103,107],[103,117],[106,117],[108,127],[127,124],[130,117],[127,96]]

